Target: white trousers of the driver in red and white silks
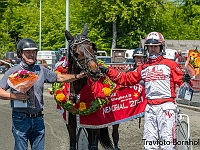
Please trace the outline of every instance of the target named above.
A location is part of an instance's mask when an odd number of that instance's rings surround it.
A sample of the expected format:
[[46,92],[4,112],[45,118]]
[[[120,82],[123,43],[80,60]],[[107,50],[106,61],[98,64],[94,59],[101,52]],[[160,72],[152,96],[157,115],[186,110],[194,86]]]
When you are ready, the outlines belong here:
[[145,150],[175,150],[177,106],[172,102],[147,104],[144,115],[143,144]]

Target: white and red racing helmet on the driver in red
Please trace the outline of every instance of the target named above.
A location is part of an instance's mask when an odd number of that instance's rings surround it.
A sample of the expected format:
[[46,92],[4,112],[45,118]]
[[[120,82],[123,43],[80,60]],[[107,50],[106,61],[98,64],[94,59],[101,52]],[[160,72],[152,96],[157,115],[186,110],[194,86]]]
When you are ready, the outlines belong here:
[[150,32],[146,38],[144,43],[145,51],[148,50],[148,45],[159,45],[160,50],[165,53],[165,39],[160,32]]

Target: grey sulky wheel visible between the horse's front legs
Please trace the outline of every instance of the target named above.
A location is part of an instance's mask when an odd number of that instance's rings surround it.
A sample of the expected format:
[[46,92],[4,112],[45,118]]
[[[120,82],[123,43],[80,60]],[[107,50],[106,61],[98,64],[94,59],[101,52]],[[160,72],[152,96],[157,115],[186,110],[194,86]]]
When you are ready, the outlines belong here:
[[79,128],[76,136],[77,150],[88,150],[88,134],[85,128]]

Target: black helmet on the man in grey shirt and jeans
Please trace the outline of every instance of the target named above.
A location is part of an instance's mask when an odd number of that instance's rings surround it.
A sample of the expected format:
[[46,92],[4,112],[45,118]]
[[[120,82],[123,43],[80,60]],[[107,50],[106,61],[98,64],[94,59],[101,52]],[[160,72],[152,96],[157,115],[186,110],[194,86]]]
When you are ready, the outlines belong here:
[[38,50],[37,44],[30,38],[24,38],[20,40],[17,44],[17,56],[18,58],[22,58],[22,51],[25,50]]

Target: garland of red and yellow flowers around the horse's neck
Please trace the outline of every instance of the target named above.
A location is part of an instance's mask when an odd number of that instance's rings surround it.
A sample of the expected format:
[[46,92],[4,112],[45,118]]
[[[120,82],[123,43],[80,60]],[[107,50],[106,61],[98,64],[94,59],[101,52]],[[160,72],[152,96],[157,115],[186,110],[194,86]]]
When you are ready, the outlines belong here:
[[[101,60],[99,60],[98,63],[99,65],[107,67],[107,65]],[[58,74],[66,74],[67,69],[68,60],[64,56],[55,65],[55,72]],[[91,113],[94,113],[98,109],[102,108],[104,105],[108,104],[112,91],[117,90],[117,88],[114,88],[114,83],[108,77],[101,78],[95,83],[91,79],[88,79],[88,82],[92,85],[91,88],[93,87],[93,90],[96,89],[96,92],[93,92],[94,100],[91,102],[78,101],[77,103],[73,103],[73,101],[70,100],[69,83],[53,83],[51,94],[54,95],[56,103],[68,112],[74,115],[90,115]]]

